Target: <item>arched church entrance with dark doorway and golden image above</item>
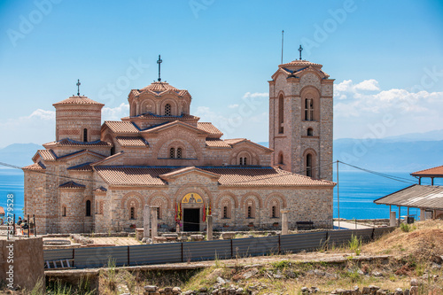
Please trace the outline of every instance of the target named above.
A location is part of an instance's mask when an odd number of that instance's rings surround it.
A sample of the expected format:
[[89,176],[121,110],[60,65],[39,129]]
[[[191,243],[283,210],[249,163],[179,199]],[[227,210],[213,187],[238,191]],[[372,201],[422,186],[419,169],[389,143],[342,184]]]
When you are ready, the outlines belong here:
[[199,231],[204,201],[198,193],[188,193],[182,198],[183,231]]

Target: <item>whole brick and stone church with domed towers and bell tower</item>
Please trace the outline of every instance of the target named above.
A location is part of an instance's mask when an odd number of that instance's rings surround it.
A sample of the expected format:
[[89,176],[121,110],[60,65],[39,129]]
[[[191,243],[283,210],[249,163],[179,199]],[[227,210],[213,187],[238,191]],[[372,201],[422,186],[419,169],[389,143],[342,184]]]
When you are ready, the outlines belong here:
[[269,82],[269,148],[223,139],[190,114],[190,93],[153,82],[128,95],[128,117],[101,123],[104,106],[74,96],[56,104],[56,138],[25,173],[25,211],[40,233],[143,226],[145,205],[173,230],[332,227],[332,88],[322,66],[280,65]]

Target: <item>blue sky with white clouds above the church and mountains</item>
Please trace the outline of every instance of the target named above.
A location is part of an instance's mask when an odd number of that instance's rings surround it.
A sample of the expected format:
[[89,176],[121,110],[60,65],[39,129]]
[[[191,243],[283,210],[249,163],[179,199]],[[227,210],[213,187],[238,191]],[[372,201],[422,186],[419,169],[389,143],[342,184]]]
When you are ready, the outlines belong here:
[[[226,138],[268,141],[282,29],[284,62],[301,43],[336,79],[336,138],[441,128],[441,1],[0,0],[0,147],[53,140],[52,104],[77,79],[105,120],[128,115],[129,90],[157,79],[159,54],[191,113],[231,121]],[[256,105],[240,116],[249,97]]]

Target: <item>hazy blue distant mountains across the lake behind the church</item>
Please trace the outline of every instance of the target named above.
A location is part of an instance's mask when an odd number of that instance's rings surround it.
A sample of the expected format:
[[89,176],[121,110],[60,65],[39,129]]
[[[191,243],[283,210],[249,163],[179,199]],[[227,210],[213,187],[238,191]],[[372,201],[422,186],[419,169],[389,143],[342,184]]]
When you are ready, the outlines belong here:
[[[261,142],[268,146],[268,142]],[[0,149],[0,162],[19,167],[32,164],[31,158],[39,144],[11,144]],[[443,129],[426,133],[411,133],[380,139],[334,140],[334,160],[385,172],[415,172],[443,165]],[[3,168],[3,167],[0,167]],[[346,168],[344,170],[352,170]]]

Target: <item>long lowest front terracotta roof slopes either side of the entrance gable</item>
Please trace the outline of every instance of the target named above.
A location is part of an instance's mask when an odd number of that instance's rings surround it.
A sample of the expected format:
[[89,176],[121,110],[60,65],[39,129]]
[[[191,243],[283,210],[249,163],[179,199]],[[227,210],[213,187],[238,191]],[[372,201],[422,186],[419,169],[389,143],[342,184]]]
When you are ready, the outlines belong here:
[[[185,167],[95,167],[98,175],[111,185],[167,185],[159,175],[167,175]],[[220,175],[219,183],[226,186],[322,186],[334,182],[315,180],[304,175],[273,167],[198,167]]]

